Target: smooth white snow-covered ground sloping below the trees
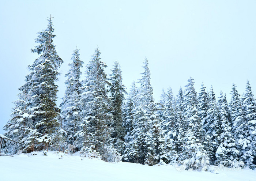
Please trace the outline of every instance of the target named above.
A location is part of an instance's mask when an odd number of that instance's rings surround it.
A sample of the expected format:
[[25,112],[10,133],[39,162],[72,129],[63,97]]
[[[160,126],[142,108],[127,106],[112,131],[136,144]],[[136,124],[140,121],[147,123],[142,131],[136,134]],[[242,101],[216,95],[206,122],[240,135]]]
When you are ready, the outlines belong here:
[[0,181],[256,181],[256,170],[212,169],[214,173],[178,171],[180,168],[170,165],[107,163],[76,155],[56,154],[53,151],[49,151],[47,156],[39,152],[37,155],[0,157]]

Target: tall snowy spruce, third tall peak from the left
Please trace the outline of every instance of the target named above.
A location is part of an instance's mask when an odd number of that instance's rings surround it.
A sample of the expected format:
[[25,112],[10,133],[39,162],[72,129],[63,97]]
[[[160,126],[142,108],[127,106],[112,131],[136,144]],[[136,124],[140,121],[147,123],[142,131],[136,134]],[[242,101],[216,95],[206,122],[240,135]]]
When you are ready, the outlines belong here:
[[86,65],[86,79],[82,86],[83,122],[88,122],[88,133],[91,135],[84,137],[83,150],[93,146],[104,161],[109,161],[110,157],[118,157],[119,154],[113,147],[110,137],[113,119],[110,114],[111,101],[106,89],[106,84],[110,85],[104,71],[106,67],[107,65],[101,61],[97,47],[91,61]]

